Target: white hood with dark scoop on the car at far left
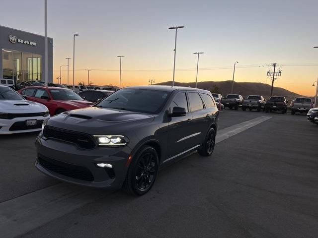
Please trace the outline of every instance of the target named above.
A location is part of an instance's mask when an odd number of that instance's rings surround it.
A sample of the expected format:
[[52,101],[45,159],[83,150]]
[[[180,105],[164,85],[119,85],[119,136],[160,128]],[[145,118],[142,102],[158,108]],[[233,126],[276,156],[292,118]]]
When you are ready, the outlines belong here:
[[43,104],[27,100],[0,100],[1,113],[42,113],[47,110]]

